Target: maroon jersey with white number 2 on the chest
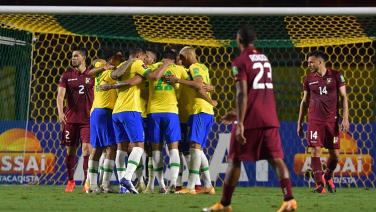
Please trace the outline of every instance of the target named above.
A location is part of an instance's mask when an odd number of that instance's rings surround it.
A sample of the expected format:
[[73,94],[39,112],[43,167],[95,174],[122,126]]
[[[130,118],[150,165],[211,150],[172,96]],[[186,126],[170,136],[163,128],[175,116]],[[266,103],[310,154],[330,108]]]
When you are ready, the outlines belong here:
[[69,69],[61,75],[59,86],[67,89],[65,115],[68,124],[89,124],[94,99],[94,78],[89,76],[89,71],[86,68],[81,74],[76,69]]

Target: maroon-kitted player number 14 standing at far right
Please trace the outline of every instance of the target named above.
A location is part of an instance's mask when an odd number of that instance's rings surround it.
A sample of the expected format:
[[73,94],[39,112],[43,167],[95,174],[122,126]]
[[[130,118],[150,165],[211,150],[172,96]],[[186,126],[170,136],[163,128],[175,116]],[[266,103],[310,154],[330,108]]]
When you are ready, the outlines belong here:
[[[343,109],[341,130],[346,132],[349,128],[345,79],[340,72],[326,68],[324,58],[324,53],[319,50],[308,54],[311,74],[304,80],[297,127],[297,133],[302,137],[302,122],[309,107],[307,137],[308,146],[312,147],[313,178],[317,183],[314,193],[326,193],[325,183],[329,192],[336,192],[331,176],[337,166],[340,148],[338,94],[341,96]],[[329,150],[325,174],[322,174],[320,161],[322,147]]]

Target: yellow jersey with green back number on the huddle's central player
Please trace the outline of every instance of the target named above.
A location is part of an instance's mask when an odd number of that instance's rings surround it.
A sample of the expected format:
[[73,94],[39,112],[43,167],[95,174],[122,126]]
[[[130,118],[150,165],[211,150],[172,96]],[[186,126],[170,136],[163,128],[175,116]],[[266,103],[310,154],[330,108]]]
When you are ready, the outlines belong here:
[[[163,62],[158,62],[150,66],[152,71],[162,66]],[[189,79],[190,76],[182,66],[169,65],[165,76],[175,75],[179,79]],[[177,93],[178,85],[165,83],[162,78],[157,81],[149,81],[149,102],[147,104],[147,114],[149,113],[176,113],[177,109]]]

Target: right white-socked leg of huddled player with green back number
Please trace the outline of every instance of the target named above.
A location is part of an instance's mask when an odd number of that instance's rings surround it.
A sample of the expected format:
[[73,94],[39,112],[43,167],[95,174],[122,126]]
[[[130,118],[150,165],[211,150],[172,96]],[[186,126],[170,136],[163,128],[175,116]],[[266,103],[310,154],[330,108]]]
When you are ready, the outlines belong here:
[[176,179],[179,174],[179,167],[180,167],[180,157],[179,157],[179,150],[178,148],[179,142],[173,142],[167,144],[169,155],[170,155],[170,170],[171,170],[171,181],[166,192],[175,193],[176,190]]

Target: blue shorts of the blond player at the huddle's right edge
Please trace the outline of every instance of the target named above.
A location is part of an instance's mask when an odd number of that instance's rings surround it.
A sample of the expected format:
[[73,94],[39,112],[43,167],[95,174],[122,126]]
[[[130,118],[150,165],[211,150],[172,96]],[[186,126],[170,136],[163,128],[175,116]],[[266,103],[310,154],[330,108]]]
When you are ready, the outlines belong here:
[[194,141],[205,147],[205,143],[210,130],[212,129],[214,115],[208,113],[198,113],[190,115],[188,118],[187,141]]

